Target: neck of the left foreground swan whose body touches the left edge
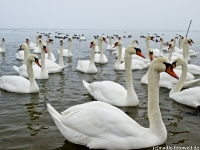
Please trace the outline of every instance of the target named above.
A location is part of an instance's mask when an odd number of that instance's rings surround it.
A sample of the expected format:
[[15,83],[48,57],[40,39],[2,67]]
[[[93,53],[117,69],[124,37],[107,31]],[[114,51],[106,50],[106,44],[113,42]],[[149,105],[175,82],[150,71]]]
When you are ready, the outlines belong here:
[[27,67],[27,73],[28,73],[28,78],[30,81],[30,89],[37,83],[35,81],[34,73],[33,73],[33,67],[32,67],[32,62],[30,60],[27,60],[26,62],[26,67]]

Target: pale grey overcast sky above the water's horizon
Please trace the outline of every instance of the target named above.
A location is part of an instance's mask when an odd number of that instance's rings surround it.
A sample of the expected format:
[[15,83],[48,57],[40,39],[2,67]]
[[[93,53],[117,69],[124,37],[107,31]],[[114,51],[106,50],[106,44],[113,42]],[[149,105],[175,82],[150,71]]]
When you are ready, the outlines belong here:
[[200,30],[200,0],[0,2],[0,29]]

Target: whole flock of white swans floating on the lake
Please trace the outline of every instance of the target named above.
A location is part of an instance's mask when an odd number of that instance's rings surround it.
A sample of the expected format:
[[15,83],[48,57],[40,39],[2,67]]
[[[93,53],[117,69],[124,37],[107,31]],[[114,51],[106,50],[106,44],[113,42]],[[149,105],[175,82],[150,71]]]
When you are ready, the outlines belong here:
[[[123,47],[121,36],[113,44],[113,36],[109,36],[107,50],[114,51],[116,63],[114,70],[125,70],[126,88],[113,81],[83,82],[88,93],[97,101],[75,105],[61,114],[49,103],[47,110],[53,118],[61,134],[70,142],[85,145],[94,149],[139,149],[165,143],[167,130],[163,123],[159,106],[159,87],[171,89],[169,97],[178,103],[196,108],[200,113],[200,87],[195,86],[200,79],[200,67],[189,64],[192,56],[198,52],[189,49],[194,42],[190,38],[181,36],[180,48],[176,47],[176,38],[163,48],[164,38],[160,38],[160,49],[153,49],[149,41],[153,36],[145,38],[147,56],[143,56],[141,49],[133,40],[128,47]],[[19,76],[0,77],[0,88],[16,93],[36,93],[39,87],[35,79],[48,79],[51,73],[62,72],[66,65],[63,57],[73,57],[71,46],[72,38],[68,38],[68,49],[64,49],[64,40],[60,39],[58,50],[59,63],[51,52],[50,44],[53,39],[42,41],[42,36],[36,36],[36,43],[26,38],[26,43],[19,46],[16,59],[22,60],[21,66],[13,66]],[[2,38],[0,52],[6,51],[5,39]],[[102,45],[107,43],[104,36],[90,42],[90,60],[79,60],[76,70],[83,73],[97,73],[95,64],[107,64],[109,60],[103,53]],[[118,48],[116,50],[116,48]],[[30,50],[34,54],[30,54]],[[163,51],[169,51],[164,54]],[[39,59],[36,55],[41,53]],[[148,70],[146,69],[148,68]],[[148,118],[149,128],[144,128],[127,114],[115,106],[138,106],[139,99],[134,90],[132,70],[146,69],[141,77],[142,84],[148,84]],[[179,79],[179,80],[178,80]],[[184,90],[182,90],[184,88]],[[192,95],[192,97],[191,97]]]

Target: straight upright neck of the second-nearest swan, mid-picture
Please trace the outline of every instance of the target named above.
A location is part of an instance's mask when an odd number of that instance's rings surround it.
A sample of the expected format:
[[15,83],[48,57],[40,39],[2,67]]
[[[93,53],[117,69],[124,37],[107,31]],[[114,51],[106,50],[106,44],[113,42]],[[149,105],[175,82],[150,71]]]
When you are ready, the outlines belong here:
[[137,98],[137,95],[135,93],[134,87],[133,87],[133,79],[132,79],[132,54],[129,52],[125,52],[125,71],[126,71],[126,88],[127,88],[127,101],[130,101],[134,97],[134,103],[138,104],[139,100]]

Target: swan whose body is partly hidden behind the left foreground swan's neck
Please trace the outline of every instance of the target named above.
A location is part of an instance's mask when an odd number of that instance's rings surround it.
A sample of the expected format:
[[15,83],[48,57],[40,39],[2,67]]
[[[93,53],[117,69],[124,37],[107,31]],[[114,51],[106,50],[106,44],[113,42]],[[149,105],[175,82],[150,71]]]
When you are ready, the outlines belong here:
[[[45,53],[47,53],[46,51],[46,44],[42,44],[42,41],[39,41],[39,46],[41,47],[42,51],[41,51],[41,68],[38,67],[37,65],[33,65],[33,73],[34,73],[34,77],[35,79],[48,79],[49,75],[48,75],[48,71],[46,70],[45,67]],[[26,47],[24,49],[24,51],[27,51]],[[27,72],[27,66],[25,64],[23,64],[20,67],[16,67],[15,65],[13,65],[13,68],[15,69],[15,71],[17,71],[17,73],[25,78],[28,78],[28,72]]]

